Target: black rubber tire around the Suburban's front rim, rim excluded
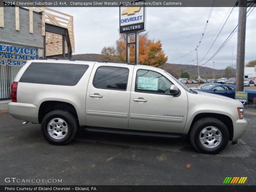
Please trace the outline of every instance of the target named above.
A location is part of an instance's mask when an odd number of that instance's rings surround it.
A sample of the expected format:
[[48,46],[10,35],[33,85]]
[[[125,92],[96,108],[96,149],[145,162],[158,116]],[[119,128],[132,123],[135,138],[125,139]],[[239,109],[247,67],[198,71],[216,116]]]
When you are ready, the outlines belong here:
[[[200,139],[199,139],[200,132],[208,126],[214,126],[214,127],[218,128],[222,135],[220,143],[216,147],[213,147],[213,148],[205,147],[200,142]],[[206,154],[217,154],[227,146],[228,140],[229,140],[229,132],[228,132],[227,126],[220,120],[218,120],[216,118],[212,118],[212,117],[205,117],[205,118],[197,120],[193,124],[193,126],[190,130],[189,137],[190,137],[191,144],[199,152],[206,153]]]

